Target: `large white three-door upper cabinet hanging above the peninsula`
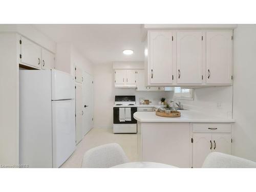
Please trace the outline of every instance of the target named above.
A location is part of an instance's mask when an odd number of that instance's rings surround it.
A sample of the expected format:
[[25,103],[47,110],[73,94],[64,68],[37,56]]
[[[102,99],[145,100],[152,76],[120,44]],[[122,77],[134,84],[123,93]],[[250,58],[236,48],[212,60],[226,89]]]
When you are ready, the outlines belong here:
[[146,86],[229,86],[232,66],[232,30],[147,32]]

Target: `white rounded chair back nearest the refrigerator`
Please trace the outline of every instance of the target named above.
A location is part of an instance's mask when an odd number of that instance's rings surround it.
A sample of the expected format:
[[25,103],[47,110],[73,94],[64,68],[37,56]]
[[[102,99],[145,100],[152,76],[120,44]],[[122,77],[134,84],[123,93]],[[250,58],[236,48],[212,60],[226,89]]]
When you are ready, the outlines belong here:
[[87,151],[82,159],[83,168],[108,168],[129,162],[117,143],[100,145]]

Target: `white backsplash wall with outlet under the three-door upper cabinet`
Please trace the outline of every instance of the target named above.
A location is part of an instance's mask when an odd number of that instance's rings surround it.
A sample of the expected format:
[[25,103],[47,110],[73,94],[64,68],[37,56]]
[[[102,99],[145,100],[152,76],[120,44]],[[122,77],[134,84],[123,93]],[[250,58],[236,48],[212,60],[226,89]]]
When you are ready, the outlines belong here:
[[[177,99],[178,100],[178,99]],[[179,100],[184,108],[232,118],[232,86],[194,89],[194,100]],[[221,104],[221,108],[217,107]]]

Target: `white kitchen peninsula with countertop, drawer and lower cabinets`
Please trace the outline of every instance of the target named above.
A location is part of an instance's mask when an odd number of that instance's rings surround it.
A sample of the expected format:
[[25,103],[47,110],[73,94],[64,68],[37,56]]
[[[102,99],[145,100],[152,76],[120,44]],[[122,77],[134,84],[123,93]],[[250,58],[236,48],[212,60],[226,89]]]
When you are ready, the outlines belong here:
[[138,157],[141,161],[178,167],[201,167],[210,152],[232,154],[232,123],[196,111],[181,111],[181,117],[136,112]]

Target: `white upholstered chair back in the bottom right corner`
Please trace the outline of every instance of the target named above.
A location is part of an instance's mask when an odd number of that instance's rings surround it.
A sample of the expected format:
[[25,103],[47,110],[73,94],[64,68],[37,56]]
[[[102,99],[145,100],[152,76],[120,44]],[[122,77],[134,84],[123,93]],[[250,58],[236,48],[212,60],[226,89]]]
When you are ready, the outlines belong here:
[[202,168],[255,168],[256,162],[218,152],[210,153]]

